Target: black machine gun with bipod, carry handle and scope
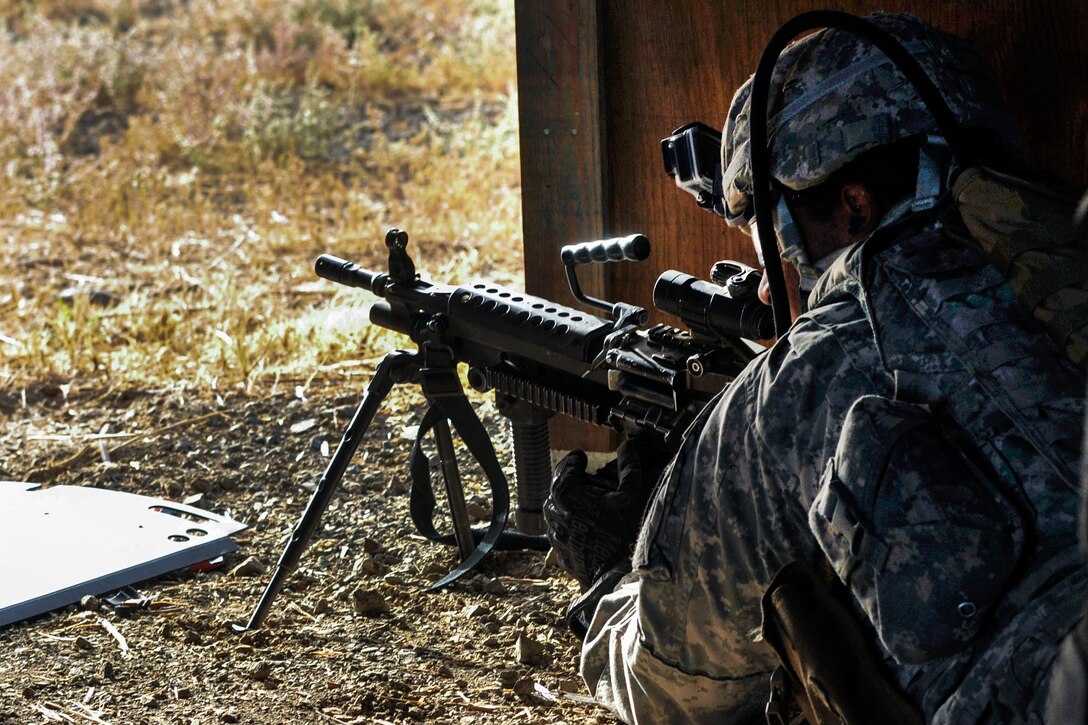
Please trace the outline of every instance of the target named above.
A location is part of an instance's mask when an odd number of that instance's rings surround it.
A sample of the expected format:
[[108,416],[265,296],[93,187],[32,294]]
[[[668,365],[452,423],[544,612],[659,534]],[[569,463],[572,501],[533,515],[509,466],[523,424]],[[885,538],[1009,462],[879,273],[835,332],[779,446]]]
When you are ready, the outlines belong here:
[[[390,230],[385,244],[388,272],[372,272],[330,255],[318,258],[316,271],[382,297],[371,308],[371,322],[408,335],[417,349],[395,351],[379,364],[248,625],[236,626],[238,630],[259,627],[267,616],[395,383],[420,385],[430,405],[412,448],[412,520],[420,533],[456,544],[461,555],[457,567],[431,587],[434,590],[470,572],[493,549],[548,548],[541,512],[552,478],[547,426],[553,415],[610,427],[671,453],[694,416],[759,349],[746,340],[774,334],[770,308],[756,298],[759,273],[735,262],[715,266],[716,283],[675,270],[658,278],[655,306],[680,317],[688,330],[666,324],[643,329],[645,309],[584,294],[577,266],[645,259],[650,242],[641,234],[561,250],[573,296],[609,319],[484,280],[460,286],[428,282],[416,273],[405,232]],[[465,395],[461,364],[468,368],[469,385],[494,392],[497,410],[511,422],[517,531],[505,531],[509,487],[491,438]],[[490,484],[492,517],[485,528],[469,524],[452,429]],[[433,433],[441,462],[452,534],[440,534],[432,519],[430,462],[421,448],[428,433]]]

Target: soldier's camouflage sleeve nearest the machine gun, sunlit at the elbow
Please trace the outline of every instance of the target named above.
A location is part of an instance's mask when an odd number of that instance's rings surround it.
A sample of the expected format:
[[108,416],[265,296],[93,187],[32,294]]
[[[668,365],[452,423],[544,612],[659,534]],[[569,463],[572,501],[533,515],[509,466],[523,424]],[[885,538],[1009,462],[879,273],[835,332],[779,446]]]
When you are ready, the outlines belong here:
[[818,555],[807,506],[849,403],[874,392],[857,359],[870,340],[856,305],[803,318],[689,431],[647,513],[636,580],[601,602],[582,649],[590,691],[625,722],[759,714],[776,665],[756,641],[759,601],[781,566]]

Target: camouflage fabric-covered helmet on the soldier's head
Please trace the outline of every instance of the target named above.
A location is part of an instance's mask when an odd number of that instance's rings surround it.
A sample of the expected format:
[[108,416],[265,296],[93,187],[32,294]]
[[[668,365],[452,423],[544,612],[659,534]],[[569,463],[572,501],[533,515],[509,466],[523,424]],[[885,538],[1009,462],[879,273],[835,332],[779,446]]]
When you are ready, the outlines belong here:
[[[877,13],[918,61],[960,124],[988,132],[1012,158],[1023,144],[996,79],[970,45],[913,15]],[[749,115],[752,78],[733,96],[721,144],[726,219],[745,231],[752,219]],[[771,176],[800,192],[827,181],[863,152],[938,131],[903,73],[869,41],[827,28],[791,44],[771,75],[768,103]]]

